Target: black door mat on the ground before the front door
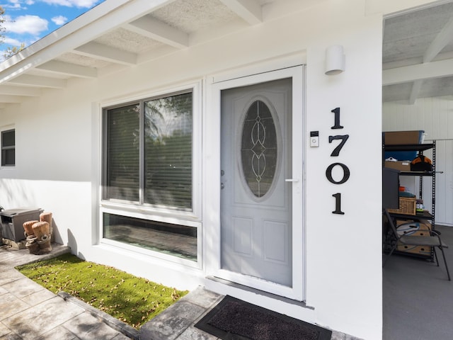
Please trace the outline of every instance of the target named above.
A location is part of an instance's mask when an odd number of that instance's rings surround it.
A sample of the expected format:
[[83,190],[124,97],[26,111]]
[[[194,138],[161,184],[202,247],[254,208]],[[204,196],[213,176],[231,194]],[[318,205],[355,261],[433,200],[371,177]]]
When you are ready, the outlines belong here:
[[224,340],[331,340],[332,331],[226,295],[195,327]]

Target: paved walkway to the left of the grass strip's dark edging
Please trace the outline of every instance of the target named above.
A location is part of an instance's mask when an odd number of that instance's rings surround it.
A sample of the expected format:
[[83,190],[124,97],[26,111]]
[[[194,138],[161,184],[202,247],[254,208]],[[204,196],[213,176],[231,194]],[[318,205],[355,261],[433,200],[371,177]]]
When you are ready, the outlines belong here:
[[130,339],[14,269],[69,252],[67,246],[52,246],[51,254],[40,256],[0,247],[0,340]]

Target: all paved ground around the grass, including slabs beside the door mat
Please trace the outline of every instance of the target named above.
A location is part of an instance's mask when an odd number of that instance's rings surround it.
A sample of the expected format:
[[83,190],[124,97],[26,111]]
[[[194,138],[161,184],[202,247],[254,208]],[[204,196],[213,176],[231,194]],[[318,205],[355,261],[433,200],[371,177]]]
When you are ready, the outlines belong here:
[[[137,331],[67,293],[55,295],[14,268],[69,251],[52,244],[50,254],[33,255],[0,246],[0,340],[218,340],[194,327],[224,297],[205,288],[185,295]],[[331,340],[360,339],[333,331]]]

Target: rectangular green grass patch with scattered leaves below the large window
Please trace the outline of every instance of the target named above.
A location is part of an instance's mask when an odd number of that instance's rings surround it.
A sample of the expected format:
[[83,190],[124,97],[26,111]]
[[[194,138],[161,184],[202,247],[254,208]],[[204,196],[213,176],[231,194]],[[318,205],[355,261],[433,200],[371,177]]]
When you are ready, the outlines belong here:
[[188,293],[72,254],[17,269],[53,293],[64,290],[136,329]]

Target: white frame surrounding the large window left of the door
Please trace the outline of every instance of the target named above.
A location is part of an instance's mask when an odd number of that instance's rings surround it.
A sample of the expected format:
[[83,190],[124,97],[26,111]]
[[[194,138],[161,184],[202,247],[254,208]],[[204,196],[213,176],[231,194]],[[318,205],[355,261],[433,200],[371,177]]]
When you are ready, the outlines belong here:
[[[128,204],[120,202],[112,202],[103,199],[103,136],[105,134],[103,126],[103,112],[105,108],[118,105],[127,105],[133,101],[144,100],[158,96],[171,96],[180,91],[192,91],[193,93],[193,166],[192,166],[192,210],[183,211],[171,208],[155,208],[147,205]],[[153,256],[159,259],[171,261],[173,263],[180,263],[184,266],[201,268],[202,266],[202,81],[191,82],[182,84],[171,88],[161,89],[158,91],[147,92],[133,97],[119,98],[117,101],[110,101],[101,103],[100,107],[100,147],[99,152],[99,172],[98,181],[100,183],[98,192],[98,211],[99,211],[99,229],[98,239],[99,244],[114,246],[118,249],[125,249],[134,251],[139,254]],[[183,225],[188,227],[197,228],[197,261],[190,261],[188,259],[181,259],[178,256],[172,256],[161,253],[159,251],[152,251],[144,249],[139,246],[132,246],[122,242],[113,241],[103,237],[103,214],[109,213],[114,215],[122,215],[126,217],[134,217],[142,220],[150,220],[156,222],[165,222],[173,225]]]

